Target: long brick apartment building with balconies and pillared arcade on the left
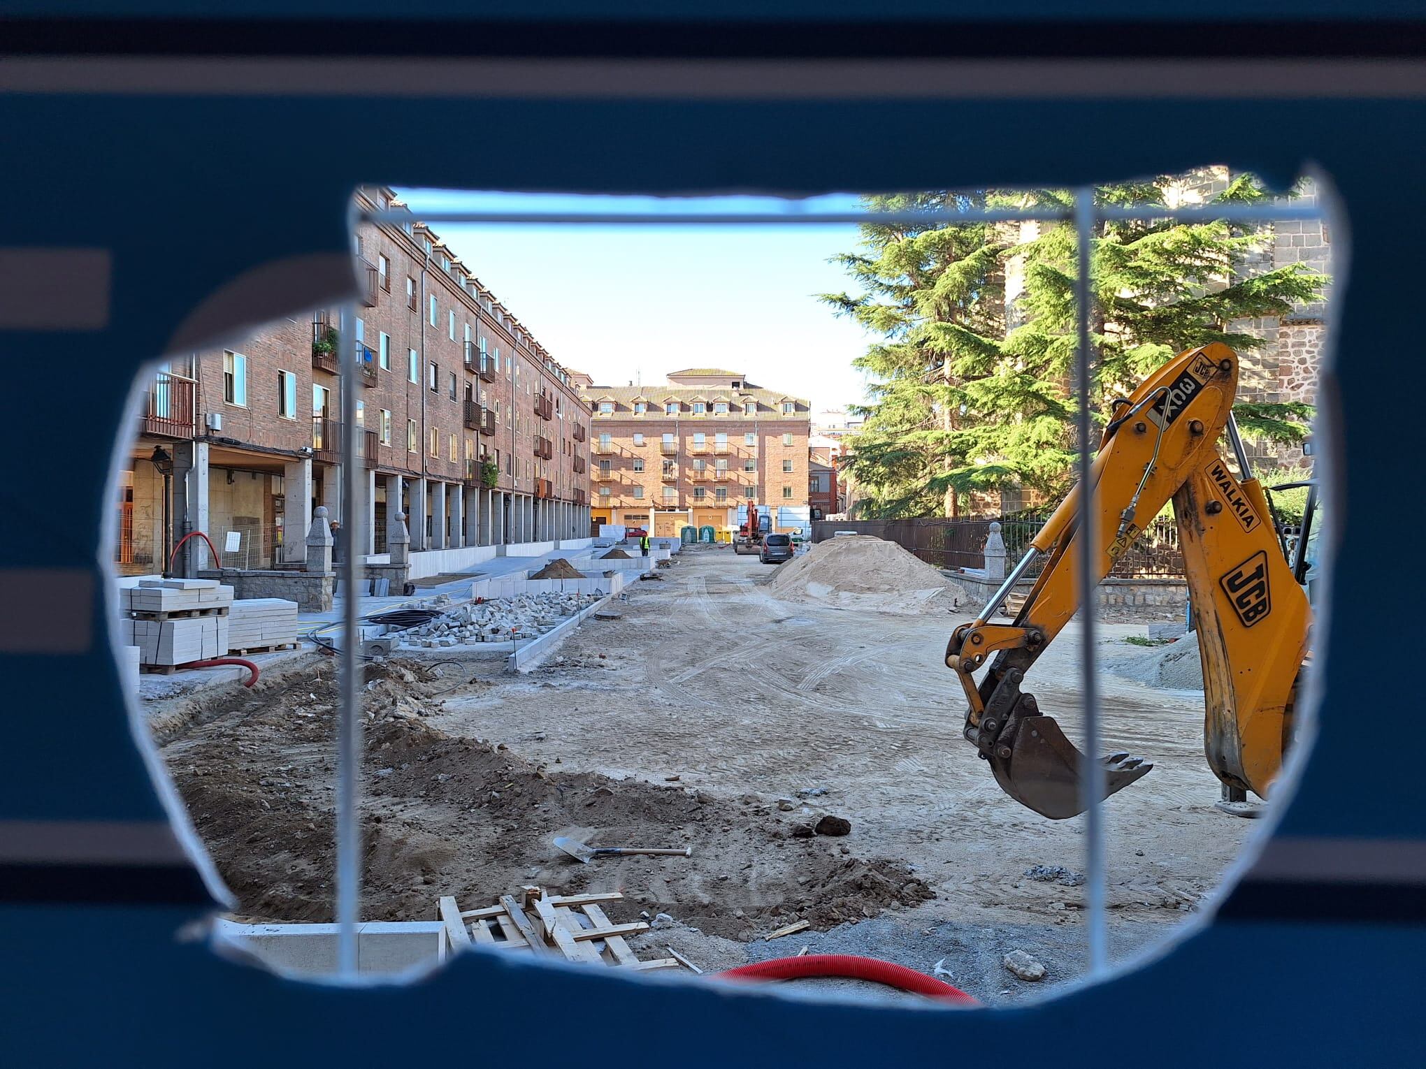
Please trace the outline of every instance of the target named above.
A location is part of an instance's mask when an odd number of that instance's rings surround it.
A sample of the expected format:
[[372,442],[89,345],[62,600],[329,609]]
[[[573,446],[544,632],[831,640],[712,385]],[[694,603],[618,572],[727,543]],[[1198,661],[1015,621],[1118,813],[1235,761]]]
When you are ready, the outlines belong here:
[[[386,188],[358,204],[404,207]],[[338,309],[288,318],[170,362],[148,385],[123,475],[124,569],[160,570],[191,530],[228,567],[305,557],[315,506],[339,515],[339,339],[361,366],[358,523],[344,544],[384,552],[398,502],[412,550],[589,533],[590,418],[575,376],[415,218],[361,224],[355,252],[355,322]],[[191,544],[180,570],[210,567]]]

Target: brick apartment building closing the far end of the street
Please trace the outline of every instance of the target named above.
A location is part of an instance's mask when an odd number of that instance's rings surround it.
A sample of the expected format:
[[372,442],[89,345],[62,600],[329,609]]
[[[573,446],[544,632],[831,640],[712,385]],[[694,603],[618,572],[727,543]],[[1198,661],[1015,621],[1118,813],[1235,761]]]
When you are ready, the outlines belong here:
[[657,386],[580,382],[593,413],[595,523],[724,533],[752,503],[771,510],[777,530],[807,523],[806,398],[717,368],[676,371]]

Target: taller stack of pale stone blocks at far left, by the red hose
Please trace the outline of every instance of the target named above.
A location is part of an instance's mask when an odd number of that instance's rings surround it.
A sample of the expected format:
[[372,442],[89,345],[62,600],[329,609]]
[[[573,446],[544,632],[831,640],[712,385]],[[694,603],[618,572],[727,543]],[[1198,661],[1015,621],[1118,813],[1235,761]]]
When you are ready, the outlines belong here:
[[215,579],[141,579],[121,587],[124,643],[141,664],[187,664],[228,653],[232,587]]

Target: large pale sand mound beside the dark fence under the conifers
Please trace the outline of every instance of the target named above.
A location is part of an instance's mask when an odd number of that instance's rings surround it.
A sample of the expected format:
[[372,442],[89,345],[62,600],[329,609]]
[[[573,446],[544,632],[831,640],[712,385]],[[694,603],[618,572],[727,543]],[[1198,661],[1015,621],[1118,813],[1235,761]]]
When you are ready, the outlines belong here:
[[811,599],[884,613],[920,613],[933,603],[951,607],[960,593],[925,562],[894,542],[868,534],[819,542],[806,554],[783,564],[770,586],[783,599]]

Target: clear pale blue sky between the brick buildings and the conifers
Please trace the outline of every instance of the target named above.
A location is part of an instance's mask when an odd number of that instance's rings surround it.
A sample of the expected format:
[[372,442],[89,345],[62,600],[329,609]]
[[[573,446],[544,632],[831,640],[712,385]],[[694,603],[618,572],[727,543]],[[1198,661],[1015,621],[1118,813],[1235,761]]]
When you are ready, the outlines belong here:
[[[853,198],[794,205],[773,198],[401,190],[416,218],[432,211],[773,212],[846,211]],[[455,224],[432,229],[570,371],[599,385],[659,383],[679,368],[727,368],[803,396],[813,412],[861,401],[851,361],[871,341],[817,294],[850,279],[829,264],[857,245],[850,225]]]

